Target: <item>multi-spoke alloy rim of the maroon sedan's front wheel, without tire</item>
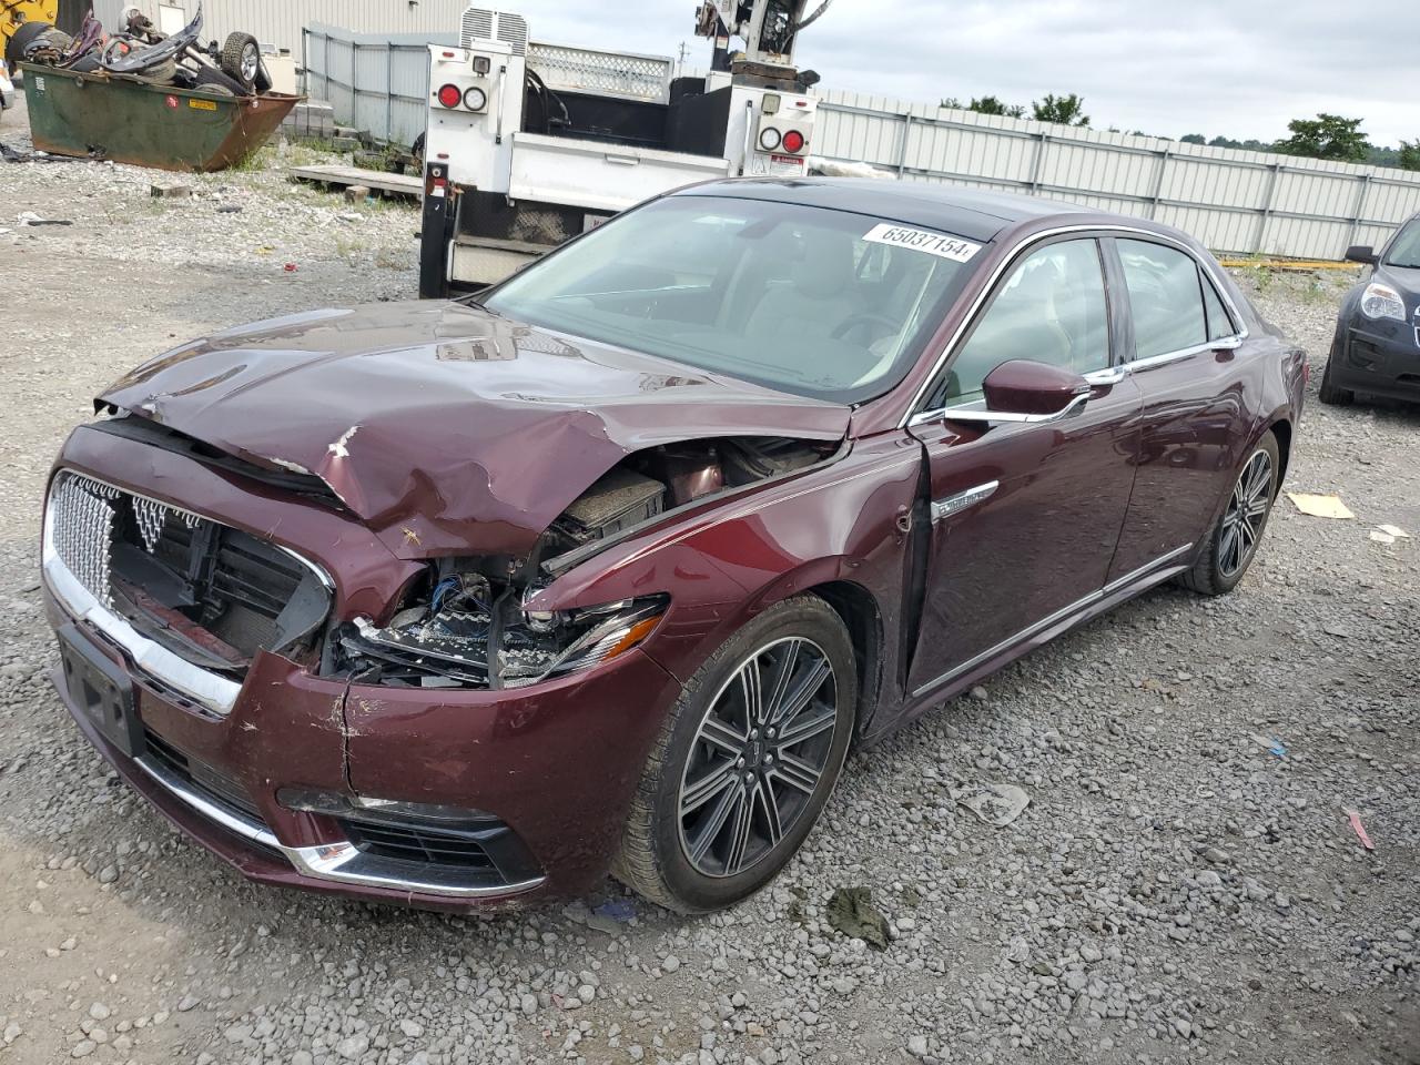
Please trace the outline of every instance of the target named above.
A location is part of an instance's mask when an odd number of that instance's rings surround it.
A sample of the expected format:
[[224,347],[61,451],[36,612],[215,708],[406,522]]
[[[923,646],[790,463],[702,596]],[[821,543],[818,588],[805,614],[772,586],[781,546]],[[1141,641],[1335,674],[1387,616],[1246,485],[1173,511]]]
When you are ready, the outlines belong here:
[[711,700],[682,772],[686,861],[713,878],[764,861],[808,809],[836,727],[838,683],[816,643],[777,640],[741,663]]

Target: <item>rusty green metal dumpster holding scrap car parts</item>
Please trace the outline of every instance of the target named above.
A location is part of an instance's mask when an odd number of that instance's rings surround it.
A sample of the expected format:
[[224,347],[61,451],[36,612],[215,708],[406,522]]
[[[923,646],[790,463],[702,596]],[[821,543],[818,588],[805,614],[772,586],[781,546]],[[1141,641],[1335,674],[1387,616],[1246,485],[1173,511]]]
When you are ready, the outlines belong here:
[[149,85],[128,74],[77,74],[21,62],[30,136],[53,155],[160,170],[222,170],[257,151],[301,97]]

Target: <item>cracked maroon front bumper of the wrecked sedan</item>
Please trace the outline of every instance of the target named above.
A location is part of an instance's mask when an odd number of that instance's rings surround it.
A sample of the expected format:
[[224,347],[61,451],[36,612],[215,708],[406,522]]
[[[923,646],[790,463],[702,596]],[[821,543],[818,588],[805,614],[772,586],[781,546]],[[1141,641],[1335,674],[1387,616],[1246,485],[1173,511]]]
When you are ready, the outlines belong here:
[[[243,517],[230,477],[180,456],[115,443],[101,463],[105,469],[94,469],[95,456],[85,454],[82,442],[71,442],[61,464],[78,459],[89,473],[135,493],[160,497],[163,484],[182,484],[183,498],[175,504],[229,524]],[[133,483],[135,473],[155,467],[163,476]],[[300,527],[310,515],[287,518],[287,527]],[[345,521],[320,515],[322,523],[335,520]],[[337,585],[335,611],[342,618],[352,601],[368,599],[368,579],[356,586],[352,574],[368,578],[376,550],[366,530],[348,524],[320,541],[344,541],[346,551],[312,552]],[[383,554],[398,574],[402,564]],[[146,747],[126,754],[58,674],[55,686],[81,731],[129,784],[253,880],[372,902],[467,910],[595,886],[619,843],[663,714],[679,694],[679,682],[639,650],[588,673],[514,692],[349,686],[263,653],[226,701],[227,711],[213,713],[192,692],[175,690],[172,669],[153,670],[146,648],[128,646],[102,604],[77,608],[68,601],[64,592],[72,589],[62,572],[47,567],[44,586],[54,628],[77,629],[111,663],[132,692],[142,728],[163,750],[170,747],[230,788],[213,791],[203,784],[206,775],[173,772],[170,761],[151,757]],[[189,689],[202,680],[185,677]],[[506,828],[487,848],[496,876],[390,861],[352,831],[351,821],[291,808],[291,792],[486,811]],[[230,794],[241,799],[227,801]]]

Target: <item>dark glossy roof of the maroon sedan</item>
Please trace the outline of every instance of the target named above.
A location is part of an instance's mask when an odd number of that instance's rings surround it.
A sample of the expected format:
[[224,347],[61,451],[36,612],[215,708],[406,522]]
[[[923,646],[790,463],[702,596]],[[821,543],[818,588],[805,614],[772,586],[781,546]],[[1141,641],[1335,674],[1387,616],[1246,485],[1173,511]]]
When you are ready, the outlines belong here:
[[[1005,229],[1039,219],[1069,217],[1076,222],[1082,216],[1099,217],[1099,212],[1061,200],[870,178],[727,179],[693,185],[676,195],[801,203],[930,226],[971,240],[991,240]],[[1139,224],[1137,219],[1129,222]]]

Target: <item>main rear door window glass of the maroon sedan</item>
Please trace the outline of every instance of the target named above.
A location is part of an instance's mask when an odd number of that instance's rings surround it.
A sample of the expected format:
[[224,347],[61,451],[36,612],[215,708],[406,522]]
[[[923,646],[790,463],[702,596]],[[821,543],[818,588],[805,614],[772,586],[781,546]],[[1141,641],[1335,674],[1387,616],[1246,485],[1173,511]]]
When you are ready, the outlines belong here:
[[1147,359],[1207,344],[1208,324],[1193,256],[1145,240],[1115,244],[1135,315],[1135,356]]

